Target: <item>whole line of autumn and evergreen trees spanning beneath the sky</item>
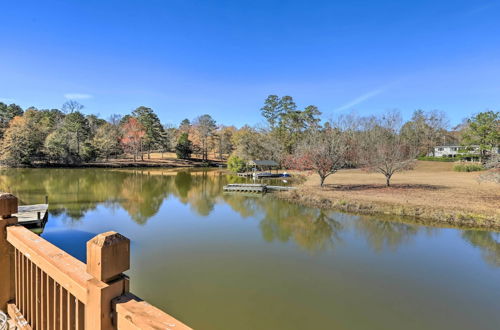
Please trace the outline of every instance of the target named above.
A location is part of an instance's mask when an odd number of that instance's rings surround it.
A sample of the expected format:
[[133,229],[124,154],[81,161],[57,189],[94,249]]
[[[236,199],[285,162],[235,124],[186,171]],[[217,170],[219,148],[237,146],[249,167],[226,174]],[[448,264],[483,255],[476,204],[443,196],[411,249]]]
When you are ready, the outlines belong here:
[[339,169],[362,167],[392,175],[433,155],[441,144],[479,148],[483,159],[500,145],[499,112],[485,111],[450,128],[440,111],[416,110],[404,122],[398,111],[377,116],[349,114],[322,122],[314,105],[299,108],[291,96],[269,95],[260,109],[264,124],[218,125],[209,114],[179,125],[163,125],[153,109],[140,106],[107,120],[66,102],[61,109],[22,109],[0,102],[0,161],[8,166],[78,165],[109,158],[150,158],[152,152],[228,160],[243,170],[248,160],[269,159],[286,168],[313,170],[323,184]]

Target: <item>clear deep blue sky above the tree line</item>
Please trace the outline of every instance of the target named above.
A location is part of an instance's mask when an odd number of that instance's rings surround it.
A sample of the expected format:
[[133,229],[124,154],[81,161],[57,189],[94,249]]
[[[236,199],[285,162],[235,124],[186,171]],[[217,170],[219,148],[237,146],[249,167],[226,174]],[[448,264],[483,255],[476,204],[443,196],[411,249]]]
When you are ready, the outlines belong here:
[[0,15],[0,101],[23,107],[237,126],[268,94],[324,119],[500,109],[497,0],[5,0]]

